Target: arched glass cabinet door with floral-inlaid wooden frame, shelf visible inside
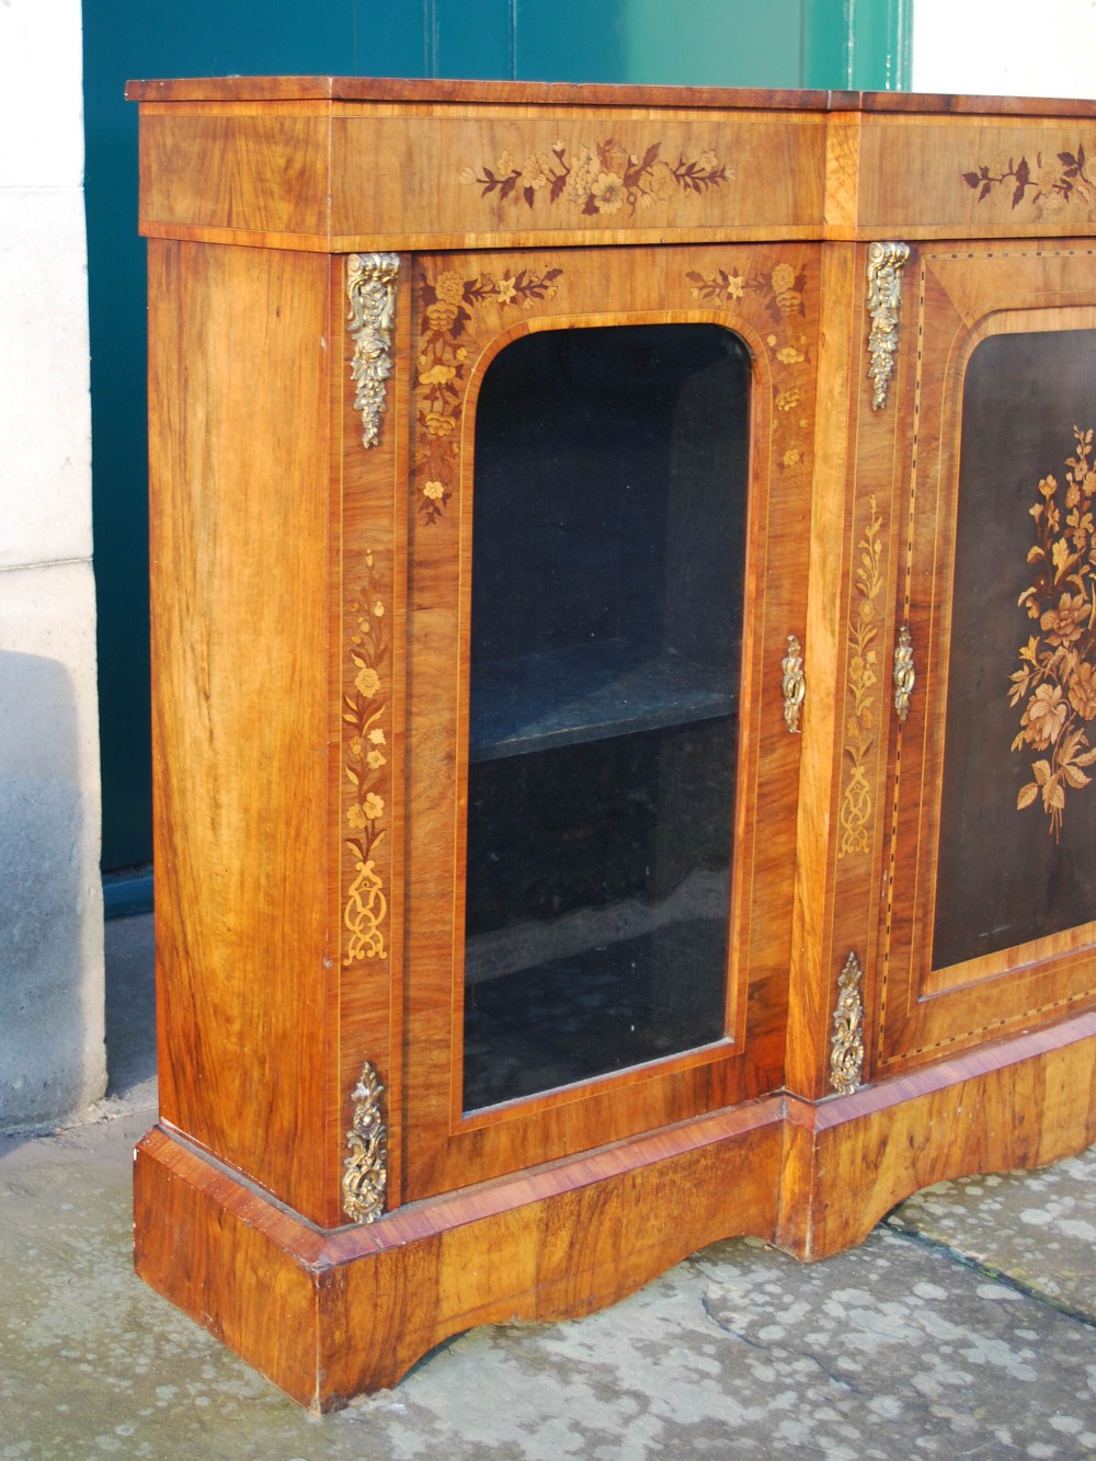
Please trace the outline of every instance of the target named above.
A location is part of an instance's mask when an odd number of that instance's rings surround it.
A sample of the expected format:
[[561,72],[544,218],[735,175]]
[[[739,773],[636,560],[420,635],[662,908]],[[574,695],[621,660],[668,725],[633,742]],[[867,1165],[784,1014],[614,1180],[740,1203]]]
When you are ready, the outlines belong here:
[[411,269],[403,1198],[782,1083],[818,275]]

